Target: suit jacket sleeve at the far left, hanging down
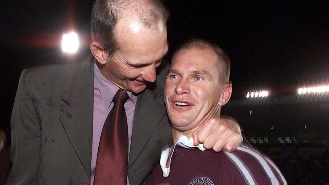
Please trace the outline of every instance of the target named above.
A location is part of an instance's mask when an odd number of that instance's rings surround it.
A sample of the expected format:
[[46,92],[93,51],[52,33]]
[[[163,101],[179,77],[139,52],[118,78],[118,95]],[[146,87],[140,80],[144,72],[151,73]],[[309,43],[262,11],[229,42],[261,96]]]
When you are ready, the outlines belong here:
[[7,184],[35,184],[40,152],[41,128],[33,97],[29,93],[27,70],[19,81],[11,117],[12,169]]

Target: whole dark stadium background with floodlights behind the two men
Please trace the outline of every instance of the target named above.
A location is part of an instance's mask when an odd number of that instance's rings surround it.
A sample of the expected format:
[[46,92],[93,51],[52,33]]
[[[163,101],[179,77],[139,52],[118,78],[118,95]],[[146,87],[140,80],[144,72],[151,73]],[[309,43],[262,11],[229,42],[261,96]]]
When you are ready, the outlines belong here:
[[[0,184],[10,167],[10,115],[22,70],[88,57],[92,4],[2,2],[0,129],[7,141],[0,154]],[[222,114],[238,120],[246,140],[275,161],[289,184],[329,184],[327,1],[165,4],[170,10],[166,59],[192,37],[219,44],[230,56],[233,83],[232,99]],[[72,31],[79,47],[76,53],[63,52],[63,34]]]

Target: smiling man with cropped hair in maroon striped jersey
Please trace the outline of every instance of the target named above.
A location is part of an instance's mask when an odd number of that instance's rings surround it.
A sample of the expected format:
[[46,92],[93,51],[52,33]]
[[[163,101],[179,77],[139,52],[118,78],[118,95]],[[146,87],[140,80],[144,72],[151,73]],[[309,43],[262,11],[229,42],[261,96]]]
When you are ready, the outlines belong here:
[[165,102],[175,145],[162,152],[148,184],[286,184],[275,164],[251,148],[216,153],[193,145],[192,133],[219,118],[229,101],[229,74],[229,58],[207,41],[189,41],[174,54]]

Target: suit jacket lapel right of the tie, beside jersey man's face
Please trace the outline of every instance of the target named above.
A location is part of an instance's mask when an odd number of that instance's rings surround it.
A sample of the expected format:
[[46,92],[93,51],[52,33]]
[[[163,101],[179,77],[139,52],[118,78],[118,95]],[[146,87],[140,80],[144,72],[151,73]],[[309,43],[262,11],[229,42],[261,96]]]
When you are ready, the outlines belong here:
[[151,88],[156,90],[148,88],[137,99],[128,167],[135,162],[165,116],[163,90],[154,86]]

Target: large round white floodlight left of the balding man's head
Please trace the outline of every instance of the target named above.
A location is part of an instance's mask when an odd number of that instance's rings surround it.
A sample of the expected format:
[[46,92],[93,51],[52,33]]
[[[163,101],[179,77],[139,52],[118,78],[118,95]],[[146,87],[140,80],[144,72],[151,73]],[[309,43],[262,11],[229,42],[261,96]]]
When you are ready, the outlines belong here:
[[71,32],[63,35],[62,50],[65,53],[73,54],[79,49],[79,38],[76,33]]

